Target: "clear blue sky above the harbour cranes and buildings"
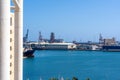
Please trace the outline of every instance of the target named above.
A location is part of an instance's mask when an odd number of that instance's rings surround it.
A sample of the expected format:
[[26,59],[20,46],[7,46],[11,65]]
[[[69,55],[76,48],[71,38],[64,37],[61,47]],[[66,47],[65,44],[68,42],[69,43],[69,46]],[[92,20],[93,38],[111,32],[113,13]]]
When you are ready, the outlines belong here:
[[37,41],[39,32],[49,39],[98,41],[115,37],[120,41],[120,0],[24,0],[24,35]]

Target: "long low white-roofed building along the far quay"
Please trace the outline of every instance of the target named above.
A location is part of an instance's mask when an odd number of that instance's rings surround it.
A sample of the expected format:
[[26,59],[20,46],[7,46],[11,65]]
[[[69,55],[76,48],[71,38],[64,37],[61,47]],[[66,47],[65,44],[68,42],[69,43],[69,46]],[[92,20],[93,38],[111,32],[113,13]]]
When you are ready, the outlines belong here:
[[36,50],[73,50],[76,49],[74,43],[34,43],[32,47]]

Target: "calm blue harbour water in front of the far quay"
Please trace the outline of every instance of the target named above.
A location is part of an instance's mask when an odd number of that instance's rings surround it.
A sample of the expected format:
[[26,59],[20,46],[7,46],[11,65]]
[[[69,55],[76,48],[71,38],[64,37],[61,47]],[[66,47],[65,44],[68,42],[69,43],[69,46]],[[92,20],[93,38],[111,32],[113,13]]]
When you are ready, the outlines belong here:
[[120,80],[120,52],[41,50],[23,61],[23,80]]

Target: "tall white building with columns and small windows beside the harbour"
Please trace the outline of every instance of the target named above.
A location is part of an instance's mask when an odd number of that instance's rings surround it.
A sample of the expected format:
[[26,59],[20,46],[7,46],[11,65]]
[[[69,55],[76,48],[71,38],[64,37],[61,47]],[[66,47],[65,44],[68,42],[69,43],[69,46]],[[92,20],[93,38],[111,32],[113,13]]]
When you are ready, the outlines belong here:
[[22,12],[23,0],[0,0],[0,80],[23,79]]

